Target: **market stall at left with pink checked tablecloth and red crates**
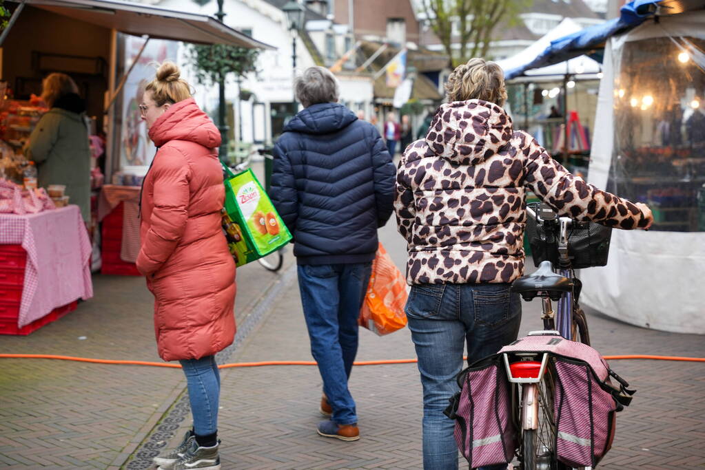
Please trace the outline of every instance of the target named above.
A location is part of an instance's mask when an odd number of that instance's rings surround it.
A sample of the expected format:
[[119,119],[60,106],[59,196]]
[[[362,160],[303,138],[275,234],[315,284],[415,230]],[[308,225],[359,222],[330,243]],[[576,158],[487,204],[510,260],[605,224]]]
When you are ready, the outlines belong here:
[[[142,52],[149,39],[269,46],[215,18],[145,4],[23,0],[5,6],[11,18],[0,33],[0,77],[4,80],[0,82],[0,332],[27,334],[65,315],[76,300],[92,296],[90,262],[101,258],[101,252],[92,251],[86,228],[97,227],[99,219],[105,222],[103,258],[121,271],[112,274],[138,274],[133,258],[135,246],[139,247],[135,235],[139,225],[133,212],[141,181],[137,174],[123,171],[121,125],[125,115],[115,104],[121,101],[130,71],[144,60]],[[141,36],[140,49],[130,55],[129,63],[123,61],[128,54],[119,50],[124,46],[118,43],[120,32]],[[168,53],[164,58],[176,59]],[[50,72],[71,77],[87,104],[93,134],[95,224],[80,222],[78,207],[63,193],[70,192],[68,186],[49,182],[48,187],[36,188],[36,169],[23,153],[32,129],[47,112],[36,95]],[[124,187],[106,186],[99,192],[101,167],[108,182],[115,173],[116,183]],[[94,231],[93,239],[99,239],[99,234]]]

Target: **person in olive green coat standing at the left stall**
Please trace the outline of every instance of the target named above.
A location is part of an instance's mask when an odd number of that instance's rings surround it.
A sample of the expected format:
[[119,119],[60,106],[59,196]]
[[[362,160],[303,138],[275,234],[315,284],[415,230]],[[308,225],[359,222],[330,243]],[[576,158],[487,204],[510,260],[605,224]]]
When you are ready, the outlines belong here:
[[90,222],[90,143],[85,103],[66,74],[52,73],[42,83],[42,99],[49,112],[37,122],[24,151],[37,163],[38,184],[66,186],[68,202]]

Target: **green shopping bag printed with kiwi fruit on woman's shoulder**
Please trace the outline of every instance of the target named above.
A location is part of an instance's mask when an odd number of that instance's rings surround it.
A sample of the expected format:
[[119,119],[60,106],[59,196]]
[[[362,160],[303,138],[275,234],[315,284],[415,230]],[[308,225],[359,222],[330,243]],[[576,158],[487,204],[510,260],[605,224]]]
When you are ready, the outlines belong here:
[[227,165],[223,169],[223,230],[235,265],[243,266],[286,245],[291,234],[252,170],[234,174]]

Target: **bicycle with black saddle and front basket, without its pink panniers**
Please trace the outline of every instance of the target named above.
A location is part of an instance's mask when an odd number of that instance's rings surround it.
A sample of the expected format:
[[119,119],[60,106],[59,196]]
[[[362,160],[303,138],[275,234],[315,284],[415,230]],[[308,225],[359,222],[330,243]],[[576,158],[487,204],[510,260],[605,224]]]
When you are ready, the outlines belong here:
[[[592,222],[577,222],[570,217],[558,217],[548,206],[539,203],[530,204],[527,207],[527,215],[525,236],[536,236],[532,233],[535,231],[539,234],[537,239],[545,245],[541,247],[540,243],[537,243],[534,256],[539,256],[539,259],[548,258],[541,260],[536,272],[521,277],[512,284],[512,291],[520,293],[524,300],[541,298],[544,331],[531,331],[529,336],[560,335],[589,345],[587,320],[578,304],[582,284],[580,279],[575,277],[574,269],[606,264],[611,229]],[[577,242],[576,245],[580,245],[582,252],[570,250],[572,239]],[[584,243],[586,240],[587,243]],[[589,259],[585,259],[585,250],[599,253],[588,253]],[[554,261],[558,269],[554,269]],[[552,302],[558,302],[556,312],[553,311]],[[509,381],[515,384],[512,387],[512,409],[515,426],[521,433],[518,452],[520,469],[573,468],[556,458],[557,428],[553,418],[556,374],[548,354],[504,353],[503,360]],[[519,386],[521,400],[517,405]],[[580,470],[590,468],[580,467]]]

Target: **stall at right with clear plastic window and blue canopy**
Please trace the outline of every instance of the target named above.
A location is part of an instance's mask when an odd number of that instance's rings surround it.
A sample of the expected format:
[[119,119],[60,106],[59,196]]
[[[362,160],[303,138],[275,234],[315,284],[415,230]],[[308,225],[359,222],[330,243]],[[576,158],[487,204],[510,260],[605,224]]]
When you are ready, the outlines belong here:
[[635,0],[512,71],[603,59],[589,179],[649,204],[650,231],[614,230],[580,302],[646,328],[705,334],[705,5]]

